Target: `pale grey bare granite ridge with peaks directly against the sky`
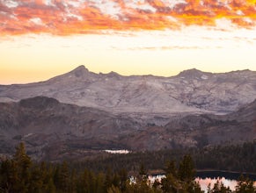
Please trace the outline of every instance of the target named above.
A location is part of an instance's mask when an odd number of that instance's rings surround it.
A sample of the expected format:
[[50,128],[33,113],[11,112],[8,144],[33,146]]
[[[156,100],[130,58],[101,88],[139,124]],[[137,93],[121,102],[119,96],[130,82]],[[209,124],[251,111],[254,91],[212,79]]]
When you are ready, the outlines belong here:
[[256,72],[212,74],[190,69],[172,77],[91,73],[84,66],[46,82],[0,85],[0,101],[54,97],[62,103],[104,111],[228,113],[252,103]]

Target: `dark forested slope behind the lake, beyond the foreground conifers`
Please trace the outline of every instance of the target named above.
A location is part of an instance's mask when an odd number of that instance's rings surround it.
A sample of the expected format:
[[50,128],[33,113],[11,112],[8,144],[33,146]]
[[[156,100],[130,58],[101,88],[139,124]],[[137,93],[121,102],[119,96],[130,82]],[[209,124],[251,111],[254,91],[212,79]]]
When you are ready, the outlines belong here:
[[162,169],[167,161],[175,161],[178,165],[185,154],[191,154],[195,168],[198,170],[227,170],[256,174],[256,142],[229,146],[99,155],[97,159],[71,162],[75,168],[91,168],[98,172],[106,172],[106,168],[109,167],[113,170],[125,167],[134,174],[140,164],[144,164],[148,170]]

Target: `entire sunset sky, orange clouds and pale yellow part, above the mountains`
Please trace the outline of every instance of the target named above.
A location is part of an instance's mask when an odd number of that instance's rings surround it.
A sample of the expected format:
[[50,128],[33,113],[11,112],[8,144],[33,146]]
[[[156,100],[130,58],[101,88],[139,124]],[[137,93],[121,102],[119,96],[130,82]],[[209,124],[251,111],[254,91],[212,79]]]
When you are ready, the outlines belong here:
[[0,0],[0,84],[256,71],[256,0]]

